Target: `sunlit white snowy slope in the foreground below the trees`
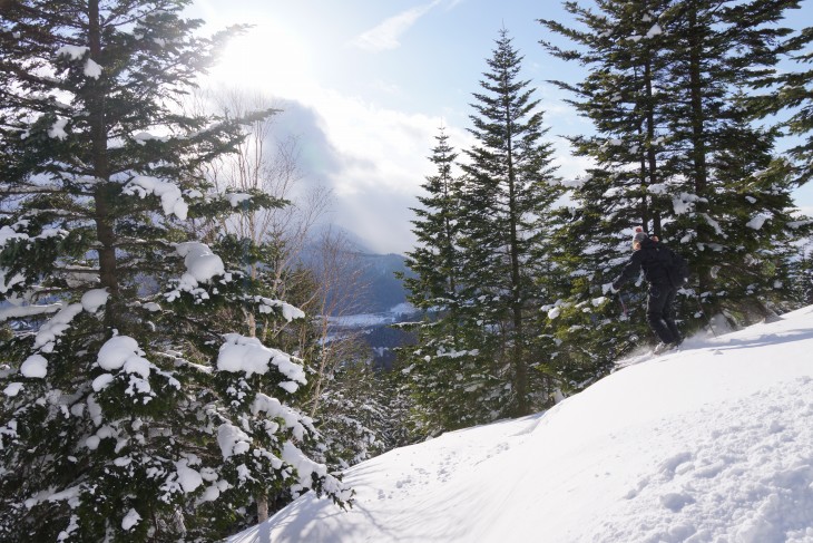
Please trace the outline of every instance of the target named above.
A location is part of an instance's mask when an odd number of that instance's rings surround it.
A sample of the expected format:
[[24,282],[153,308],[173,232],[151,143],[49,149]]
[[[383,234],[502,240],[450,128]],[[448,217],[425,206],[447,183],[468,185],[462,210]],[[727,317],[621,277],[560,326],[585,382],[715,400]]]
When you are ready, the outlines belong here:
[[349,469],[229,543],[813,542],[813,307]]

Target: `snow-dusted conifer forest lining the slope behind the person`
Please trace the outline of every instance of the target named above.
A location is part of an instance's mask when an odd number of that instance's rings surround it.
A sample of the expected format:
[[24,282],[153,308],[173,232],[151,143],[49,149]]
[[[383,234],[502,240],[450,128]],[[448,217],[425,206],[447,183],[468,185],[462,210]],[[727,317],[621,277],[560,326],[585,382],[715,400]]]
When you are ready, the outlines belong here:
[[[392,368],[352,243],[316,227],[272,103],[199,84],[241,26],[192,0],[0,0],[0,541],[218,541],[342,469],[550,408],[654,337],[618,277],[641,226],[688,261],[689,336],[813,303],[805,0],[575,0],[484,37],[473,145],[427,142]],[[806,9],[810,9],[806,6]],[[271,9],[271,8],[270,8]],[[555,165],[523,62],[592,127]],[[273,90],[273,89],[270,89]],[[791,142],[790,145],[787,142]],[[782,143],[782,147],[780,146]],[[782,149],[782,151],[780,151]]]

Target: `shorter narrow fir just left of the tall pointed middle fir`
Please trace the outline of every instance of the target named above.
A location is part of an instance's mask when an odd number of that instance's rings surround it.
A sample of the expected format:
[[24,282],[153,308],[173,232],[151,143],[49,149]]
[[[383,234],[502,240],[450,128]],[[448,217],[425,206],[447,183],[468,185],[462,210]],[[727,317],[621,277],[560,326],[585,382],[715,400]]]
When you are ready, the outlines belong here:
[[[476,323],[463,321],[473,318],[464,310],[461,294],[463,181],[456,175],[458,153],[449,135],[441,129],[435,139],[429,157],[435,171],[422,185],[421,206],[413,210],[412,232],[418,243],[405,262],[413,275],[403,278],[408,300],[423,314],[421,322],[410,327],[417,334],[415,345],[400,350],[400,375],[411,398],[410,426],[415,436],[489,420],[480,389],[499,387],[484,370],[486,359],[467,348],[466,332]],[[497,404],[490,408],[497,409]]]

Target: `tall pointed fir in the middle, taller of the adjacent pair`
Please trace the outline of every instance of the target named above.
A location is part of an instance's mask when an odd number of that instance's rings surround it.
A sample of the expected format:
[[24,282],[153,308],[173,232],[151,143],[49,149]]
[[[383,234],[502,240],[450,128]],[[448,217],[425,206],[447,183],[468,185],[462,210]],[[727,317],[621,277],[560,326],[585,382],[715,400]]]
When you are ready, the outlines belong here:
[[497,377],[477,389],[481,405],[493,406],[488,416],[518,416],[545,405],[551,392],[535,369],[546,353],[536,348],[531,323],[550,295],[535,279],[545,265],[540,248],[560,185],[552,145],[542,140],[539,101],[519,77],[522,57],[505,29],[496,45],[482,93],[473,95],[476,145],[462,164],[460,337],[477,351],[480,372]]

